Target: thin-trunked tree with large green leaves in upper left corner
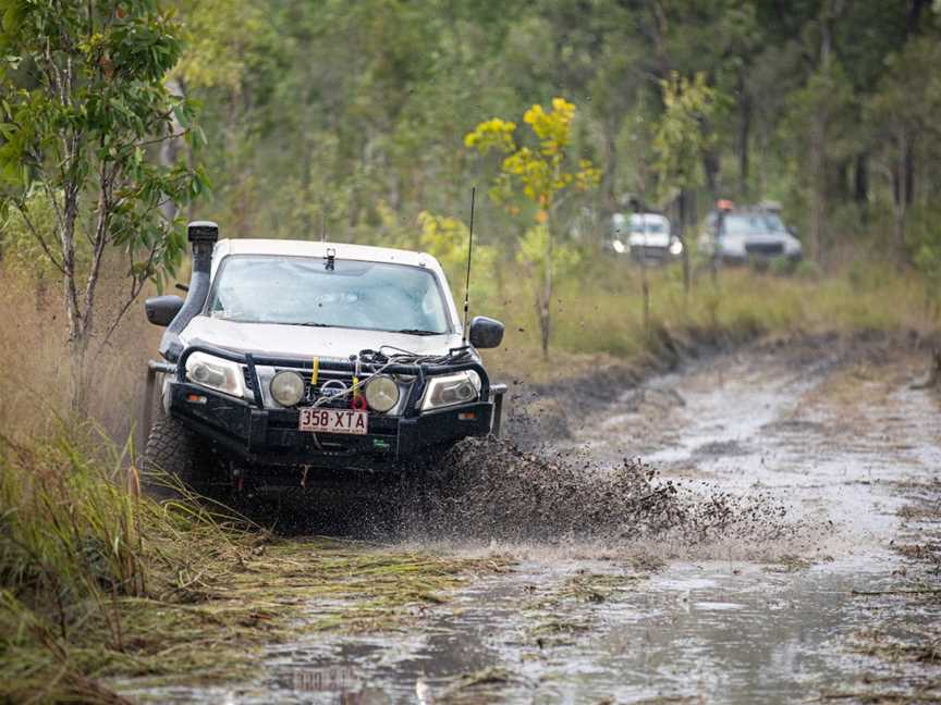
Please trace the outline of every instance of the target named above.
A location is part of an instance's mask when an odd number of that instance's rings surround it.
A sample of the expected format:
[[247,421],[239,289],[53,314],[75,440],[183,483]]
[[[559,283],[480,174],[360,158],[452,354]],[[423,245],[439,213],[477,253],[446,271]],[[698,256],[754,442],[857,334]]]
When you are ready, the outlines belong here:
[[[206,188],[198,165],[157,159],[167,140],[185,138],[191,150],[201,143],[193,103],[163,84],[181,55],[180,26],[151,0],[2,0],[0,13],[3,212],[65,280],[70,338],[84,349],[106,248],[125,253],[136,296],[146,281],[172,274],[183,253],[168,205]],[[32,218],[39,191],[51,227]]]

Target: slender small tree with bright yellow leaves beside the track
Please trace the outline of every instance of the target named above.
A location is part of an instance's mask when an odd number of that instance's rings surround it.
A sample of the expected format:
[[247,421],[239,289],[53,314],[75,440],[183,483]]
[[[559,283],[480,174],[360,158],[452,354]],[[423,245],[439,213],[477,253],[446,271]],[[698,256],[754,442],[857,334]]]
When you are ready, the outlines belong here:
[[[535,223],[524,230],[520,248],[521,261],[531,270],[541,270],[541,283],[536,289],[542,354],[549,354],[552,334],[552,289],[559,270],[577,262],[577,252],[555,242],[554,215],[566,196],[598,186],[601,172],[585,159],[574,164],[571,153],[572,123],[575,106],[564,98],[554,98],[552,108],[533,106],[523,114],[529,125],[533,146],[521,144],[516,123],[493,118],[478,124],[464,137],[464,146],[481,154],[504,154],[500,173],[493,178],[490,197],[512,215],[521,215],[521,197],[535,206]],[[528,219],[529,215],[523,215]]]

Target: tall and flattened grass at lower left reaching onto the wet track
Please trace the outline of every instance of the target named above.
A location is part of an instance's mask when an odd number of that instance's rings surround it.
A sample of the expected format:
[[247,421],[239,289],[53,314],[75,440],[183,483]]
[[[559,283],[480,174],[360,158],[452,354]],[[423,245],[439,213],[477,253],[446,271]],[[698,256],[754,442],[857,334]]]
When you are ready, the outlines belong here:
[[248,678],[262,644],[392,630],[491,559],[282,542],[140,496],[124,454],[0,445],[0,702],[121,702],[102,684]]

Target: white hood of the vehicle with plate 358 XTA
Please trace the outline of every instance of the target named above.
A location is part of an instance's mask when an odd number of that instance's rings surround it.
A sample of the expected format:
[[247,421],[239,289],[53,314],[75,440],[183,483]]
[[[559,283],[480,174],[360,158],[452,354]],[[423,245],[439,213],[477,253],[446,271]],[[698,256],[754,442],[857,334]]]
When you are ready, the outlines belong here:
[[184,345],[209,345],[239,352],[309,359],[346,360],[362,350],[389,345],[417,355],[444,355],[461,346],[461,335],[405,335],[342,327],[308,327],[280,323],[237,323],[197,316],[180,335]]

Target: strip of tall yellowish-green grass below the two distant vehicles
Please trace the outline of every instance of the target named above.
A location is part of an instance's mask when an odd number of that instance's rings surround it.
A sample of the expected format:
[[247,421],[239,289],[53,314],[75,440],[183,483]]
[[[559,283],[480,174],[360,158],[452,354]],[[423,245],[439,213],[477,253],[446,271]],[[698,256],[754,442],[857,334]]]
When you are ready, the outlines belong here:
[[649,329],[636,264],[596,260],[560,282],[548,360],[539,351],[527,282],[506,279],[504,290],[477,306],[506,323],[504,344],[488,352],[488,361],[504,375],[546,381],[599,364],[643,367],[674,344],[735,343],[760,334],[926,331],[937,324],[921,277],[878,262],[856,262],[828,276],[726,268],[714,283],[699,271],[688,294],[679,264],[649,269],[648,279]]

